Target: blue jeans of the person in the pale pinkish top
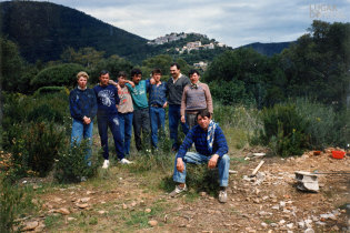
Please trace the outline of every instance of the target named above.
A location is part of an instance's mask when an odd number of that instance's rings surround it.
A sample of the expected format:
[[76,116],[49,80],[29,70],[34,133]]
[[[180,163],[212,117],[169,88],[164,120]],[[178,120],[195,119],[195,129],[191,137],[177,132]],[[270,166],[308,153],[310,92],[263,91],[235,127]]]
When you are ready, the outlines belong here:
[[130,141],[131,141],[131,130],[132,130],[132,112],[118,113],[119,126],[120,126],[120,138],[121,143],[124,148],[124,154],[130,153]]

